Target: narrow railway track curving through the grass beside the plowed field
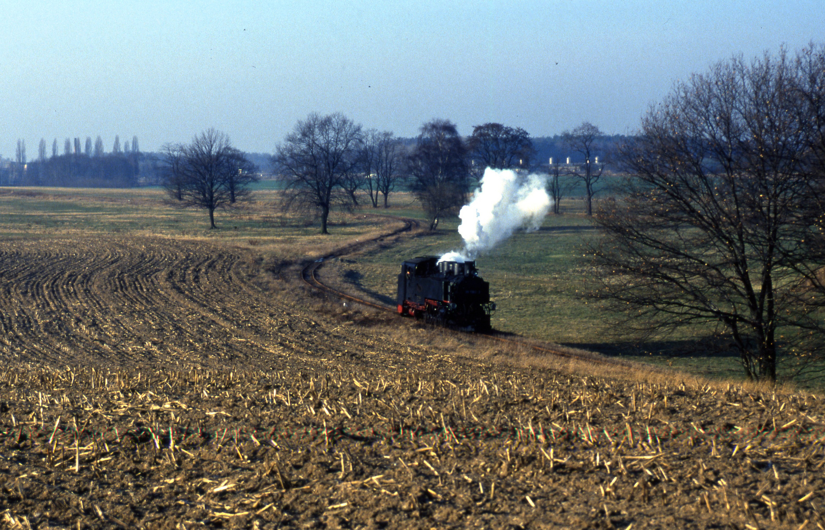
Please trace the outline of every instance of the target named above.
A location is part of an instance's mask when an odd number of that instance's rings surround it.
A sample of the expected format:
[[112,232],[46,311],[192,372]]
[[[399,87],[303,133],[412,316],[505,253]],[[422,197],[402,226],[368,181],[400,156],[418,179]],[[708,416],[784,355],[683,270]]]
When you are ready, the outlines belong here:
[[[341,257],[341,256],[347,256],[347,254],[351,254],[352,252],[354,252],[356,250],[359,250],[359,249],[361,249],[361,247],[366,246],[370,243],[379,242],[379,241],[384,240],[388,237],[398,236],[398,235],[400,235],[402,233],[405,233],[405,232],[412,232],[414,229],[416,229],[417,227],[420,226],[420,223],[416,219],[411,219],[411,218],[398,218],[398,219],[404,222],[403,227],[398,228],[398,229],[394,230],[393,232],[389,232],[387,234],[384,234],[384,235],[381,235],[381,236],[378,236],[378,237],[373,237],[371,239],[365,239],[362,242],[356,242],[356,243],[352,243],[352,244],[347,245],[347,246],[342,246],[341,248],[338,248],[335,251],[332,251],[327,256],[323,256],[322,258],[318,258],[318,260],[314,260],[313,262],[311,262],[308,265],[304,266],[304,268],[301,270],[301,279],[304,280],[304,284],[307,284],[312,288],[316,288],[319,291],[322,291],[323,293],[331,294],[332,296],[335,296],[337,298],[342,298],[342,299],[345,299],[345,300],[351,300],[352,302],[360,303],[363,306],[375,307],[376,309],[380,309],[381,311],[387,311],[387,312],[397,314],[394,307],[387,307],[387,306],[380,305],[380,304],[377,304],[377,303],[372,303],[372,302],[370,302],[368,300],[365,300],[363,298],[358,298],[356,296],[352,296],[349,293],[344,293],[343,291],[339,291],[336,288],[329,287],[327,284],[323,284],[323,282],[318,279],[318,276],[316,275],[316,272],[318,271],[318,269],[323,267],[324,263],[326,263],[328,260],[332,260],[332,259],[335,259],[335,258],[338,258],[338,257]],[[453,329],[450,329],[450,328],[446,328],[446,329],[448,329],[448,330],[450,330],[454,333],[464,333],[464,331],[453,330]],[[512,339],[512,338],[502,337],[501,335],[498,335],[495,332],[476,333],[476,335],[483,335],[484,337],[487,337],[490,340],[497,340],[498,342],[502,342],[502,343],[505,343],[505,344],[529,346],[530,349],[534,349],[535,351],[541,352],[543,354],[551,354],[551,355],[554,355],[556,357],[561,357],[561,358],[564,358],[564,359],[577,359],[577,360],[586,361],[588,363],[624,365],[624,363],[620,363],[620,362],[617,362],[617,361],[612,360],[612,359],[598,359],[595,356],[571,354],[569,352],[559,351],[558,349],[548,348],[546,346],[533,345],[533,344],[530,344],[530,343],[526,342],[525,340],[516,340],[516,339]]]

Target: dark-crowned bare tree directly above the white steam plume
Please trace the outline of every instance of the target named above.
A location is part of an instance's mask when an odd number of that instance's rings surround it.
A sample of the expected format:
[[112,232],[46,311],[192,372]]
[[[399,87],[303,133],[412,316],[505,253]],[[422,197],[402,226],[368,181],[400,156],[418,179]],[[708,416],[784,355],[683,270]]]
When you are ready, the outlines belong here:
[[481,180],[484,170],[529,168],[535,156],[530,134],[521,127],[488,123],[476,125],[467,140],[474,177]]

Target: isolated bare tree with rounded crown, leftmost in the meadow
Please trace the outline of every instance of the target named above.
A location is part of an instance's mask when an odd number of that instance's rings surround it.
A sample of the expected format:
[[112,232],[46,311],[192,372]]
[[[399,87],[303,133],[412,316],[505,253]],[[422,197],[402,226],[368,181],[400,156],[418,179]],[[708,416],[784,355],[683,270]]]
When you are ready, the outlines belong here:
[[233,200],[248,199],[248,181],[239,176],[248,162],[226,134],[207,129],[189,145],[165,147],[165,153],[167,193],[181,206],[207,210],[210,229],[216,227],[216,209],[232,207]]

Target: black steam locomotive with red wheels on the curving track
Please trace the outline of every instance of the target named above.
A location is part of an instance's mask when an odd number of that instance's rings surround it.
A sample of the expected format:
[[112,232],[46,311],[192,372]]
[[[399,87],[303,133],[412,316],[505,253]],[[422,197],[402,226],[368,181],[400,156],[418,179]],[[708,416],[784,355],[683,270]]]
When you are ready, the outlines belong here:
[[421,256],[404,261],[398,274],[398,314],[467,328],[490,329],[490,284],[479,278],[475,261],[442,261]]

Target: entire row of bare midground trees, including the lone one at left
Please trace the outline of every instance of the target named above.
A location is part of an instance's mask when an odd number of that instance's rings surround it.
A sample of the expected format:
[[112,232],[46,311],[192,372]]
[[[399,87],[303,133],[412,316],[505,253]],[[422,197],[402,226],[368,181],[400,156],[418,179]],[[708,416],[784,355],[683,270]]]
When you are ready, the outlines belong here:
[[[599,138],[601,131],[587,123],[563,135],[568,149],[583,153],[584,162],[566,165],[563,175],[585,183],[588,214],[604,168],[604,162],[591,158],[604,147]],[[361,206],[365,198],[373,208],[386,208],[389,195],[401,186],[413,191],[435,230],[442,218],[466,204],[486,168],[540,171],[544,167],[533,165],[535,154],[526,130],[498,123],[476,125],[463,138],[450,120],[430,120],[409,142],[389,131],[364,129],[341,113],[311,113],[276,148],[271,166],[284,185],[281,208],[316,216],[322,233],[328,233],[333,210]],[[218,159],[225,162],[215,162]],[[214,211],[243,202],[248,185],[256,180],[254,165],[214,129],[191,144],[165,145],[160,160],[169,198],[174,204],[208,210],[210,228],[216,226]],[[222,175],[206,176],[205,166],[222,168]],[[556,200],[564,190],[561,176],[556,171],[551,178]]]

